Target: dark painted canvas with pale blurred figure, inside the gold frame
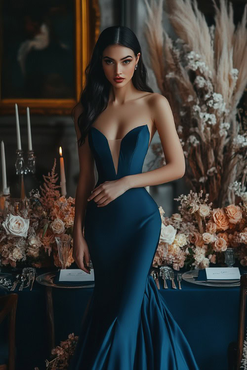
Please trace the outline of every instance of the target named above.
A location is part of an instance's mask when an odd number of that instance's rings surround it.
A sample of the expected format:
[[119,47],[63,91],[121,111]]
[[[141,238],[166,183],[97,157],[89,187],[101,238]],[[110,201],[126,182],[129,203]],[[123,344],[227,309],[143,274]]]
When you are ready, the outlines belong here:
[[1,99],[74,99],[73,0],[1,1]]

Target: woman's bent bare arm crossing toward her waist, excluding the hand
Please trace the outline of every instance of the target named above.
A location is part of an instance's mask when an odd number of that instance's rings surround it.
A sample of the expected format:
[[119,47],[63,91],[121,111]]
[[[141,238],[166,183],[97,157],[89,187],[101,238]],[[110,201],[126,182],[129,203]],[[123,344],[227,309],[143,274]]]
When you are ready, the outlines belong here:
[[161,94],[154,94],[151,104],[166,165],[141,174],[124,176],[120,180],[126,183],[127,188],[168,183],[180,179],[185,173],[184,153],[168,100]]

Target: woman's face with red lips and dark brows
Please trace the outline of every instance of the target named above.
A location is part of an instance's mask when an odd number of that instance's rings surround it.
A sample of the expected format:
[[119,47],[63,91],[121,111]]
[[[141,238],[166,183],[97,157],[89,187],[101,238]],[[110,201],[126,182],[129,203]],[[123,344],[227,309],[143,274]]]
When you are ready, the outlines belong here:
[[[131,80],[135,65],[138,63],[140,53],[137,58],[132,49],[121,45],[109,45],[102,54],[102,67],[106,78],[115,87],[123,87]],[[137,67],[138,68],[138,67]],[[122,77],[123,79],[115,79]]]

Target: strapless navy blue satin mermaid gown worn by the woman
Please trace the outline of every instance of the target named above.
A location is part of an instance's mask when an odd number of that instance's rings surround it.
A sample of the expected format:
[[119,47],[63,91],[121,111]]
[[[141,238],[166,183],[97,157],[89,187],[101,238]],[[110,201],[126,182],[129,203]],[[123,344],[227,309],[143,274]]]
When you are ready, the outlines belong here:
[[[98,172],[95,187],[142,172],[148,125],[117,140],[114,161],[110,140],[95,127],[89,130]],[[70,370],[199,370],[149,274],[161,224],[158,205],[145,187],[130,188],[106,206],[97,207],[93,199],[88,202],[84,237],[95,287]]]

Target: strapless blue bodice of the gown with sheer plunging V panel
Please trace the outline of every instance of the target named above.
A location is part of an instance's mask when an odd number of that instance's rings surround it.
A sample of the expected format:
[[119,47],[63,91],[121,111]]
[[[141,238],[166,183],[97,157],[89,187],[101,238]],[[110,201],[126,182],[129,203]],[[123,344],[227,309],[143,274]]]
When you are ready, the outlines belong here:
[[147,124],[134,127],[122,139],[107,139],[100,130],[91,126],[88,143],[98,172],[97,184],[141,173],[149,140]]

